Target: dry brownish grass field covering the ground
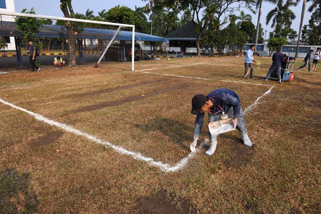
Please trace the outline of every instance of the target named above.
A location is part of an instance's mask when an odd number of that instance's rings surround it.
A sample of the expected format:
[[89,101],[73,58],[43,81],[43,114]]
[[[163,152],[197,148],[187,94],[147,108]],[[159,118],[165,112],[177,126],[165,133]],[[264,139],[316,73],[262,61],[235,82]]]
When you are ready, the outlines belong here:
[[[319,213],[321,68],[266,83],[258,60],[254,80],[229,56],[1,75],[0,213]],[[218,88],[253,146],[232,131],[206,156],[204,125],[190,153],[191,99]]]

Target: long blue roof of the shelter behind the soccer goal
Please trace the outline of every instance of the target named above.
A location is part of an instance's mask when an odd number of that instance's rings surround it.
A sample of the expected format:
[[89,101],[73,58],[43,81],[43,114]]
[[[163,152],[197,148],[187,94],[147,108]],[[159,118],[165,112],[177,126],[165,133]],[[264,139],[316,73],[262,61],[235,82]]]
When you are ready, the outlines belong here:
[[[1,36],[19,36],[23,35],[16,27],[15,22],[2,21],[0,23]],[[104,29],[104,28],[84,28],[84,30],[78,35],[78,38],[86,39],[111,39],[116,30]],[[40,28],[39,33],[36,33],[35,37],[48,37],[48,38],[68,38],[68,32],[65,26],[62,25],[48,25],[45,24]],[[116,40],[131,40],[132,32],[121,30],[115,37]],[[153,36],[149,34],[136,33],[135,40],[141,41],[169,41],[169,38],[163,38],[160,36]]]

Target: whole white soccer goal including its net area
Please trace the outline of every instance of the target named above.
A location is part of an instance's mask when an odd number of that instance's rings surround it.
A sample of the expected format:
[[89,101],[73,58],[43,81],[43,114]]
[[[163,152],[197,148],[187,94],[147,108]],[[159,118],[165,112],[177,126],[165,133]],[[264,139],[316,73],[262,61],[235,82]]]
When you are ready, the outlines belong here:
[[135,25],[0,11],[0,36],[11,43],[5,48],[9,67],[29,66],[28,41],[18,28],[21,18],[42,23],[32,36],[40,50],[37,63],[42,67],[53,67],[54,58],[59,56],[66,66],[92,64],[134,71],[135,61],[142,58],[140,44],[135,43]]

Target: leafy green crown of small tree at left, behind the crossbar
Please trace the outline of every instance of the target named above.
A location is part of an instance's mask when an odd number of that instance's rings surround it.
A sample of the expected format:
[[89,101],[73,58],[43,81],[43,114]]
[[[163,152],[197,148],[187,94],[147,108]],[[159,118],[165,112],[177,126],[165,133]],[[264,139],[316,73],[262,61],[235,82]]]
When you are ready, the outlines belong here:
[[[21,13],[25,14],[36,14],[34,8],[31,8],[30,11],[27,9],[22,9]],[[17,28],[23,35],[23,40],[25,43],[29,39],[33,38],[36,33],[39,32],[40,27],[42,27],[42,21],[39,18],[29,18],[29,17],[17,17],[15,18]]]

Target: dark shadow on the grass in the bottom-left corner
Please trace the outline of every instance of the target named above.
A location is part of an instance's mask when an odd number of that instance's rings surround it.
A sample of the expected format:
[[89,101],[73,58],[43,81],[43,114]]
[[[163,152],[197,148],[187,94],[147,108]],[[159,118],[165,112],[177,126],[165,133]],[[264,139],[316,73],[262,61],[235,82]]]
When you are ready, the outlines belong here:
[[14,168],[0,172],[0,213],[36,213],[39,204],[30,186],[31,174]]

